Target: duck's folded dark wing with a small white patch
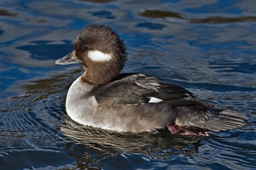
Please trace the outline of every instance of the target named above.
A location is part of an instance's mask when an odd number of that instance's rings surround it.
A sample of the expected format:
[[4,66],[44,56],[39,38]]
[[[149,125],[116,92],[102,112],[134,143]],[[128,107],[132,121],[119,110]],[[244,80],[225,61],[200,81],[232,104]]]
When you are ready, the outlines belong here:
[[91,95],[95,95],[99,105],[161,103],[173,107],[207,106],[185,88],[143,74],[120,75],[117,80],[95,88]]

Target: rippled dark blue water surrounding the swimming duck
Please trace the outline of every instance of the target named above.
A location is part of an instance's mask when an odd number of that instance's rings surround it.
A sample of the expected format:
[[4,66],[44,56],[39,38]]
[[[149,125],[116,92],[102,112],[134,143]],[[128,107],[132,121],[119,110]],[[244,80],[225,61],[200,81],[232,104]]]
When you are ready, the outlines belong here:
[[[188,88],[245,127],[209,137],[114,133],[65,111],[79,65],[55,65],[85,25],[112,26],[123,72]],[[0,2],[0,169],[256,169],[256,6],[241,1]]]

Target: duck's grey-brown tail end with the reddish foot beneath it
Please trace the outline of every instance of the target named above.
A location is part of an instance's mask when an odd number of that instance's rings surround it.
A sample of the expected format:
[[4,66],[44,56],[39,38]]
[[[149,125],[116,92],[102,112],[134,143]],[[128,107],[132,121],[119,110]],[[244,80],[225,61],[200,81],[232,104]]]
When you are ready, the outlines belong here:
[[219,132],[245,125],[247,116],[237,111],[212,110],[203,107],[177,108],[176,121],[168,125],[173,134],[207,136],[207,131]]

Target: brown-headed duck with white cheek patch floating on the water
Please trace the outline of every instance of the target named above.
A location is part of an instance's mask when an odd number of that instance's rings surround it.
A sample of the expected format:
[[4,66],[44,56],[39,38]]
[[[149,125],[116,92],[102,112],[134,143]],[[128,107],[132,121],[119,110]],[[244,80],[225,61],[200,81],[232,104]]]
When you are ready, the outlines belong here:
[[246,116],[212,109],[185,88],[144,74],[119,74],[125,61],[125,45],[111,28],[91,25],[80,31],[73,52],[55,61],[80,63],[85,70],[67,92],[73,121],[119,132],[167,128],[200,136],[244,125]]

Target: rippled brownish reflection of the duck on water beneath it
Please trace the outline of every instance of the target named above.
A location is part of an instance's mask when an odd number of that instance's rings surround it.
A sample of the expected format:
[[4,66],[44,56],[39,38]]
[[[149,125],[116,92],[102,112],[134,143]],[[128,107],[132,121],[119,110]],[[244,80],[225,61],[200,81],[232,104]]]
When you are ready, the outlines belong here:
[[[160,133],[117,133],[96,127],[85,127],[63,116],[61,133],[73,139],[73,144],[86,149],[116,155],[122,152],[141,153],[151,157],[197,153],[201,145],[199,137],[172,135],[169,131]],[[162,152],[163,154],[159,154]]]

